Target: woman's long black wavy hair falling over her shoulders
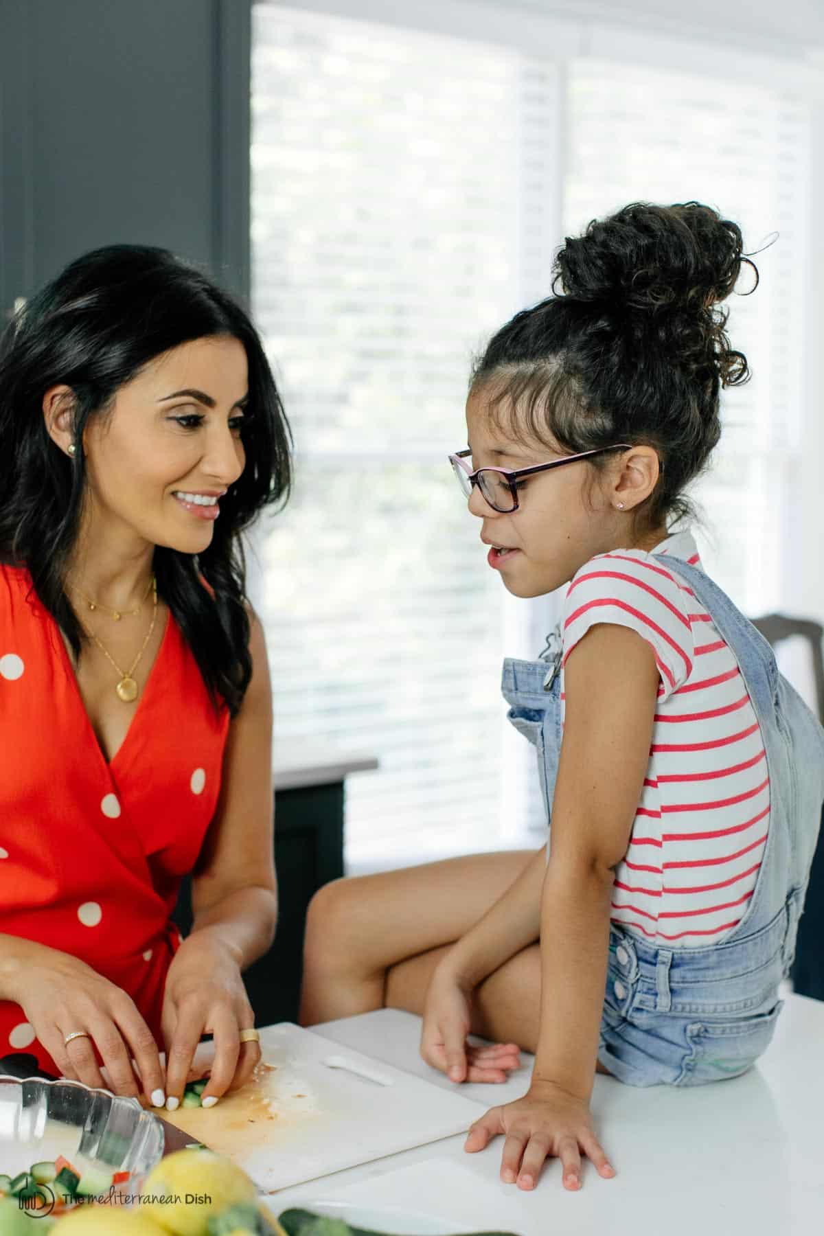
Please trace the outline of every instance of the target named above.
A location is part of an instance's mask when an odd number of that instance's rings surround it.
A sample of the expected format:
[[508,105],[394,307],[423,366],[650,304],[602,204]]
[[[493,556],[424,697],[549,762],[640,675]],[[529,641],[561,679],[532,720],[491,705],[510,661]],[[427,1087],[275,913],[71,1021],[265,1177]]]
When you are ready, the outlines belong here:
[[80,442],[91,418],[109,414],[119,387],[143,366],[214,335],[232,335],[246,350],[246,466],[221,499],[209,548],[190,555],[158,545],[154,572],[215,708],[226,706],[235,716],[252,674],[238,534],[263,507],[288,497],[292,438],[248,315],[167,250],[111,245],[85,253],[6,329],[0,341],[0,561],[28,569],[40,601],[79,658],[86,637],[63,581],[80,528],[85,462],[82,450],[72,459],[49,438],[43,394],[56,384],[72,388]]

